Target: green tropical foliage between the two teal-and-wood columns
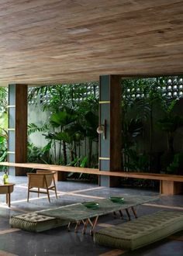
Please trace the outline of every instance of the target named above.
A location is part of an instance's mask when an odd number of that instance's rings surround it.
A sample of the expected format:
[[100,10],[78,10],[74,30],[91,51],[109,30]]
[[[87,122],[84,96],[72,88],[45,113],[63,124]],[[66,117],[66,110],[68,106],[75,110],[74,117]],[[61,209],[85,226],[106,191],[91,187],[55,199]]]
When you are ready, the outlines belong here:
[[[33,88],[29,91],[29,103],[40,102],[42,110],[50,112],[47,125],[30,124],[29,134],[39,131],[50,142],[51,150],[54,151],[54,163],[58,161],[57,158],[60,161],[63,158],[64,164],[67,164],[68,159],[73,162],[86,138],[90,140],[90,145],[92,140],[98,140],[97,86],[98,83],[91,82]],[[91,150],[92,147],[88,152],[89,161]],[[70,157],[67,156],[68,153]]]

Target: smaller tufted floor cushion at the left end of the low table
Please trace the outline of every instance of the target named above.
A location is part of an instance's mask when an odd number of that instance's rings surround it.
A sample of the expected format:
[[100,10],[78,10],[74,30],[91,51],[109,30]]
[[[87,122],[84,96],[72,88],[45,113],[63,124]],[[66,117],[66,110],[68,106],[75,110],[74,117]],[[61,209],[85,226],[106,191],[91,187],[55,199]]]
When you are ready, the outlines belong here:
[[50,216],[38,215],[37,213],[26,213],[12,216],[9,220],[9,224],[11,227],[22,230],[42,232],[55,227],[65,226],[67,222]]

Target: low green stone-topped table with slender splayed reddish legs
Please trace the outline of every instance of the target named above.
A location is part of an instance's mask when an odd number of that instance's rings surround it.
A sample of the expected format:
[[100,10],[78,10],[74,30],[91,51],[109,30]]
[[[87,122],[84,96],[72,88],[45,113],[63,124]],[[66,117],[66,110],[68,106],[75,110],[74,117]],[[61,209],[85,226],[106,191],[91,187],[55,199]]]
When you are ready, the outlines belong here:
[[93,234],[98,223],[99,216],[103,216],[108,213],[113,213],[116,216],[116,213],[119,212],[119,216],[123,218],[123,210],[125,210],[128,220],[131,219],[130,211],[133,213],[133,216],[137,218],[136,206],[157,199],[159,199],[159,196],[126,195],[124,196],[123,202],[112,202],[110,199],[98,199],[98,207],[95,209],[88,209],[83,203],[76,203],[74,205],[60,206],[56,209],[47,209],[36,213],[55,217],[60,220],[67,220],[68,230],[71,230],[71,223],[76,223],[74,227],[75,232],[78,232],[79,227],[83,224],[83,234],[85,234],[87,227],[91,226],[90,234]]

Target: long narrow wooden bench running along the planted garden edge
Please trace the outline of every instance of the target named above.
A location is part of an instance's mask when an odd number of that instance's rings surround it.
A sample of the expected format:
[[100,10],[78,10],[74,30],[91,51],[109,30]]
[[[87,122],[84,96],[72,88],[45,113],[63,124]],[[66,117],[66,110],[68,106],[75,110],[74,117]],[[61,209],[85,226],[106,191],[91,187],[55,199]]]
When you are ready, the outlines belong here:
[[[54,164],[35,164],[35,163],[9,163],[0,162],[0,165],[19,168],[33,168],[51,171],[67,171],[86,173],[91,175],[106,175],[124,178],[144,178],[160,181],[160,193],[165,195],[175,195],[183,192],[183,175],[166,175],[146,172],[126,172],[126,171],[99,171],[95,168],[79,168]],[[56,177],[57,179],[57,177]]]

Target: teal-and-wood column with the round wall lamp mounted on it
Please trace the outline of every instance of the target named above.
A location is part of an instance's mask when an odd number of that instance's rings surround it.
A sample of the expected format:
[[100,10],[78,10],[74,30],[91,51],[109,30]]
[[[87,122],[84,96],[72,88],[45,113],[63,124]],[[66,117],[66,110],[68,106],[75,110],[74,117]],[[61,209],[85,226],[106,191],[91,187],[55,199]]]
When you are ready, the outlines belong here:
[[[102,75],[99,84],[99,125],[105,124],[105,137],[99,134],[99,170],[122,169],[122,91],[118,75]],[[119,178],[101,176],[99,185],[119,186]]]

